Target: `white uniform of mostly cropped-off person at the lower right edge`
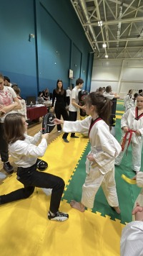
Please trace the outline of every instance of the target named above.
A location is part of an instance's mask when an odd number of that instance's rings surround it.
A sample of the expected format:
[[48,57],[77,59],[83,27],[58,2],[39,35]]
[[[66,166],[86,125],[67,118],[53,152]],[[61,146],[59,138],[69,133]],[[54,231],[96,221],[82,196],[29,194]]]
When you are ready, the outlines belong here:
[[[137,202],[143,206],[143,173],[137,173],[137,186],[142,187]],[[121,256],[142,256],[143,255],[143,221],[132,221],[124,227],[121,237]]]

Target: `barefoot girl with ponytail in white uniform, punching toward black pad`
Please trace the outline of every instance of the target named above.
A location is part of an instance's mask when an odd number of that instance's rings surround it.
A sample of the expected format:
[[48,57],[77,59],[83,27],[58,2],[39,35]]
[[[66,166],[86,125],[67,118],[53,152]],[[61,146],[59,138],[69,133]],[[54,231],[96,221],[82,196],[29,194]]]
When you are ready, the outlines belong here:
[[109,116],[111,101],[95,92],[85,97],[85,109],[88,116],[82,121],[68,122],[54,119],[55,124],[64,124],[64,132],[89,132],[91,151],[87,155],[87,177],[82,187],[82,200],[72,200],[71,207],[84,211],[85,207],[92,209],[94,198],[100,186],[104,191],[109,206],[120,214],[114,180],[114,159],[119,155],[121,146],[109,132]]

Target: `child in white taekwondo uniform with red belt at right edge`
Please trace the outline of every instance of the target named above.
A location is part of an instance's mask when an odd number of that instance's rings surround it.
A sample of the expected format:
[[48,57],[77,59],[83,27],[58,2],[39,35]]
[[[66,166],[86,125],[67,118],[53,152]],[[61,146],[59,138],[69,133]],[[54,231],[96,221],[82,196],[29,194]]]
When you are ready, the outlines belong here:
[[115,160],[115,165],[120,165],[124,152],[127,152],[129,144],[132,146],[132,170],[139,172],[141,168],[142,142],[143,142],[143,93],[137,96],[137,106],[133,106],[123,114],[122,128],[122,152]]

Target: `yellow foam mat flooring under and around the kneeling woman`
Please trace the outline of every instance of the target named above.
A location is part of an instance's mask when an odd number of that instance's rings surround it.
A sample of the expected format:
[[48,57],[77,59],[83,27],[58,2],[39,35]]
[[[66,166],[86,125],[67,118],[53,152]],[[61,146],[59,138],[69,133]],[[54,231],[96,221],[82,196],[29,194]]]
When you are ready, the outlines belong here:
[[[78,134],[79,135],[79,134]],[[80,135],[79,135],[80,136]],[[67,184],[88,139],[69,138],[69,143],[56,138],[46,150],[43,159],[49,163],[46,170],[59,175]],[[0,194],[21,188],[14,173],[1,184]],[[38,192],[38,193],[36,193]],[[40,188],[25,200],[1,205],[1,256],[118,256],[119,240],[124,225],[91,210],[81,213],[61,201],[60,210],[69,213],[63,223],[47,219],[50,196]]]

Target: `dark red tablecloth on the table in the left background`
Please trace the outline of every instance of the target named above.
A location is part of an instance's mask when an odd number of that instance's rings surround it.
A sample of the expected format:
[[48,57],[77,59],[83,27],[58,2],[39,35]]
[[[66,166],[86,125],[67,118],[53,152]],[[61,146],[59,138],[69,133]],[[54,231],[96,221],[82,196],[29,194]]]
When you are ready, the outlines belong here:
[[26,108],[27,118],[31,120],[39,119],[47,113],[46,106],[29,106]]

